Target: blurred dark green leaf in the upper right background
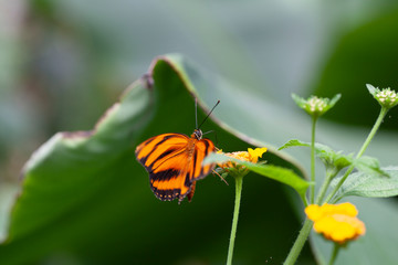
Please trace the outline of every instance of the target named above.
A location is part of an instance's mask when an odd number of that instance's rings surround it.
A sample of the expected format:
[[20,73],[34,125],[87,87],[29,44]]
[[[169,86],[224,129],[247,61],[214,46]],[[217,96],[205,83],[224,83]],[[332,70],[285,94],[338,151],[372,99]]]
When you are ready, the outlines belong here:
[[[329,114],[329,118],[349,125],[369,125],[379,106],[369,94],[364,93],[364,84],[375,84],[379,88],[397,86],[398,53],[398,11],[358,26],[337,43],[333,56],[325,65],[320,83],[314,91],[316,95],[332,96],[343,93],[339,108]],[[349,112],[347,112],[349,109]],[[394,108],[390,117],[396,117]],[[384,129],[398,129],[398,123],[386,119]]]

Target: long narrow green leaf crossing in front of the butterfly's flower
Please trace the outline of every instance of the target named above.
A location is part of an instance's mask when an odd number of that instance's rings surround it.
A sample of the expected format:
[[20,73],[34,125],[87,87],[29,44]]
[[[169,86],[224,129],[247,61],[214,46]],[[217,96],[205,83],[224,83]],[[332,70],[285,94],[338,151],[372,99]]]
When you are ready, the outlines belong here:
[[303,201],[305,201],[305,192],[311,183],[298,177],[291,169],[286,169],[273,165],[259,165],[259,163],[247,162],[239,159],[227,157],[221,153],[210,155],[208,158],[205,159],[203,163],[211,163],[211,162],[223,163],[227,161],[234,161],[237,163],[243,165],[248,169],[250,169],[251,171],[258,174],[264,176],[266,178],[276,180],[279,182],[292,187],[294,190],[298,192]]

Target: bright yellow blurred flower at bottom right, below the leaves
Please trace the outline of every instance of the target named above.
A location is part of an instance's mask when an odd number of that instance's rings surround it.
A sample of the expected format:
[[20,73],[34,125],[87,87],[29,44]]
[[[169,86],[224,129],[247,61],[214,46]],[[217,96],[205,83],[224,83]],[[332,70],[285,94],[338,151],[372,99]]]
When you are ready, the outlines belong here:
[[311,204],[305,208],[310,220],[314,221],[314,230],[325,239],[344,244],[356,240],[366,232],[365,224],[356,218],[357,209],[349,202],[341,204]]

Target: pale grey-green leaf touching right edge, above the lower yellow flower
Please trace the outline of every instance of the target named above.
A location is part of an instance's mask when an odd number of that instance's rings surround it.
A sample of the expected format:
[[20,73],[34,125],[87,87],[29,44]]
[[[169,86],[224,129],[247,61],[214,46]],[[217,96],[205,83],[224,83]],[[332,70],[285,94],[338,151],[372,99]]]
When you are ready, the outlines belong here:
[[[379,173],[355,172],[349,174],[336,194],[336,201],[344,197],[368,197],[385,198],[398,195],[398,167],[387,167],[383,169],[389,177],[381,177]],[[332,182],[335,187],[341,178]]]

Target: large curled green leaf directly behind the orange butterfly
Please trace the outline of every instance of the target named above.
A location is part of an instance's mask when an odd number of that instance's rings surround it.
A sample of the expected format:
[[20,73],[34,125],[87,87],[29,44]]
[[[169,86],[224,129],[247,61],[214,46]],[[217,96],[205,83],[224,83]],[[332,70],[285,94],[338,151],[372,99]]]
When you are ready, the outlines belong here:
[[[150,136],[170,131],[190,134],[195,128],[192,95],[197,96],[196,88],[200,86],[221,84],[214,81],[205,78],[178,55],[159,57],[148,75],[135,82],[93,130],[59,132],[40,147],[24,169],[8,239],[0,246],[1,264],[65,261],[159,264],[209,258],[223,262],[233,189],[208,177],[197,184],[192,203],[160,202],[153,195],[147,173],[134,156],[135,146]],[[222,109],[222,102],[228,100],[220,99],[214,115]],[[203,105],[200,98],[199,103]],[[205,116],[203,112],[198,115],[199,120]],[[202,129],[216,129],[221,148],[248,148],[231,132],[243,135],[221,121],[217,125],[209,120]],[[265,156],[270,162],[300,173],[300,169],[272,153],[272,146],[265,146],[271,149]],[[247,181],[245,187],[248,191],[258,191],[248,193],[247,200],[266,202],[281,197],[280,205],[289,209],[280,186],[261,178]],[[283,233],[293,233],[297,223],[290,211],[268,219],[272,209],[259,213],[254,203],[242,206],[249,216],[255,212],[263,221],[244,224],[242,216],[237,261],[260,261],[261,250],[283,261],[290,242],[276,230],[270,233],[266,227],[280,225]],[[254,243],[265,235],[268,243]],[[248,244],[250,241],[253,244]]]

